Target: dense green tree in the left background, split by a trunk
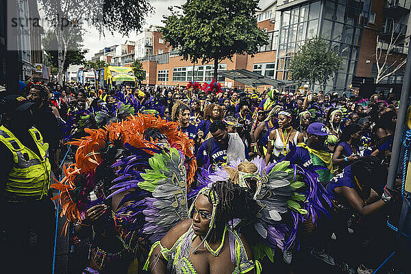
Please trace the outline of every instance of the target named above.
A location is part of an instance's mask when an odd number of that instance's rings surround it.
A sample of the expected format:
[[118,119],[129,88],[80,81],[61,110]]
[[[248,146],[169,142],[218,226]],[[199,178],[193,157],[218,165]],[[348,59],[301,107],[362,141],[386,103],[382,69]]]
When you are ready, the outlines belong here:
[[[85,54],[88,50],[83,50],[83,38],[80,32],[73,32],[73,37],[70,39],[70,43],[66,45],[66,58],[63,63],[63,73],[69,69],[71,64],[83,64]],[[45,38],[42,39],[43,47],[45,47],[45,53],[49,64],[53,68],[58,69],[58,51],[53,49],[53,45],[57,43],[57,37],[55,36],[54,30],[49,30]],[[58,71],[57,73],[58,74]]]

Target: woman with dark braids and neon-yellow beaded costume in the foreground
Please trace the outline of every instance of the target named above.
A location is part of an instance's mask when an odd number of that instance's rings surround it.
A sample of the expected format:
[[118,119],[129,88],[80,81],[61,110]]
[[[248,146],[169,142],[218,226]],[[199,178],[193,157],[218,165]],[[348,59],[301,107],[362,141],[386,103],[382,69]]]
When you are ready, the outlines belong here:
[[253,212],[250,193],[231,182],[217,181],[199,191],[182,221],[158,242],[145,269],[151,273],[258,273],[247,240],[229,221]]

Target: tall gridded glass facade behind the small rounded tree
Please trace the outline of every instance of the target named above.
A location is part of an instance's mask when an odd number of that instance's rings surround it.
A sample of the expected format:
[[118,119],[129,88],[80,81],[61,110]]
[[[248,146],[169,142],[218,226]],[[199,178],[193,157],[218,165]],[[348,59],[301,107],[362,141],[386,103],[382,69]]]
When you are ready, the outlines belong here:
[[325,90],[349,89],[356,73],[362,26],[368,23],[371,0],[322,0],[284,10],[279,28],[277,72],[279,80],[288,79],[288,64],[304,40],[321,36],[329,41],[343,63]]

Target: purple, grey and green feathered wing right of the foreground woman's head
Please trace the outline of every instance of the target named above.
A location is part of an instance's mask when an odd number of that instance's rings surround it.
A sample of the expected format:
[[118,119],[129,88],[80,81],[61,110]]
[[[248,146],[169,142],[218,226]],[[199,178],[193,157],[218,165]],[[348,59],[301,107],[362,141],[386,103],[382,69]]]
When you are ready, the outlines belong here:
[[256,195],[262,210],[254,227],[270,247],[289,249],[297,238],[299,224],[310,216],[314,223],[320,212],[328,214],[323,202],[330,206],[331,201],[318,182],[316,169],[319,167],[306,169],[283,160],[262,177]]

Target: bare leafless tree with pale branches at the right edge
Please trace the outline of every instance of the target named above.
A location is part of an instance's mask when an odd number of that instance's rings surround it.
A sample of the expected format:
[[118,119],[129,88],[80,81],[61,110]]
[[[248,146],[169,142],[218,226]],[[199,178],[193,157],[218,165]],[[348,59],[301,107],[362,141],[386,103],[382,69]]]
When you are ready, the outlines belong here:
[[[390,35],[390,41],[384,43],[379,39],[377,35],[377,44],[375,45],[375,63],[377,65],[377,77],[375,78],[375,84],[378,84],[382,79],[394,74],[396,71],[401,69],[406,62],[407,56],[397,55],[395,60],[392,60],[393,52],[395,51],[395,46],[397,42],[401,42],[401,34],[395,34],[399,31],[400,24],[396,24],[395,21],[392,21],[392,30]],[[386,46],[384,48],[384,46]],[[390,60],[391,59],[391,60]]]

